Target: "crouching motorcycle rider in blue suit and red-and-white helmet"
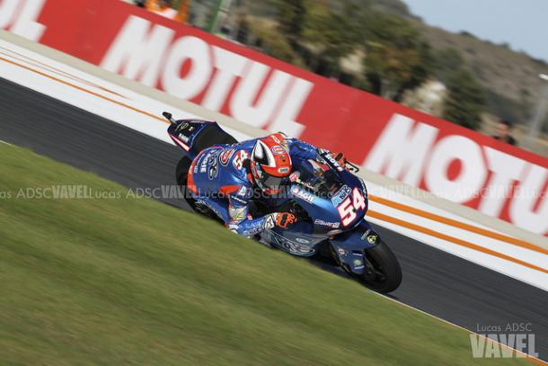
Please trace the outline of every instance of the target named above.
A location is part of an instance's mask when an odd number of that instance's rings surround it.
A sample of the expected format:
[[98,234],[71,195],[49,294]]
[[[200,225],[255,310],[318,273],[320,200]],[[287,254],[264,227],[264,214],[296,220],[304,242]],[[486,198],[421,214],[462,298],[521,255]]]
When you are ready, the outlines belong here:
[[[331,154],[282,133],[208,147],[190,165],[187,187],[198,208],[212,210],[237,234],[253,237],[265,228],[287,228],[296,222],[291,212],[252,217],[253,192],[258,189],[267,201],[275,200],[294,167],[316,160],[321,151]],[[344,162],[342,154],[337,161]]]

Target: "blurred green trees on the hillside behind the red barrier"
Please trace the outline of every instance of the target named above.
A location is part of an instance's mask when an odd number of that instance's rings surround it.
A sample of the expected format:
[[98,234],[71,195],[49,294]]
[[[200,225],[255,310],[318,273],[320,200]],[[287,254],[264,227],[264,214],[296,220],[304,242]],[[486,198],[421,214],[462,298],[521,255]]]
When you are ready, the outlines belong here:
[[[270,56],[394,102],[427,80],[439,80],[446,85],[440,117],[480,127],[482,86],[456,49],[433,49],[410,21],[376,11],[367,0],[269,2],[274,22],[243,17],[240,27]],[[352,55],[359,56],[358,75],[341,67]]]

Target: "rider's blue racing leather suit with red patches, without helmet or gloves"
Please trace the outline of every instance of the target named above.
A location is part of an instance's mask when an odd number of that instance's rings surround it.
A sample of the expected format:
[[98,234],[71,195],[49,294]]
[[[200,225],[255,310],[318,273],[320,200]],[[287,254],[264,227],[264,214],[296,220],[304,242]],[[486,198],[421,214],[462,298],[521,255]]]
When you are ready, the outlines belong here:
[[[252,175],[246,160],[258,138],[234,145],[215,145],[202,150],[190,165],[188,187],[198,205],[207,206],[232,231],[245,237],[261,233],[270,225],[269,215],[252,218]],[[302,161],[316,159],[318,149],[296,138],[286,138],[294,167]]]

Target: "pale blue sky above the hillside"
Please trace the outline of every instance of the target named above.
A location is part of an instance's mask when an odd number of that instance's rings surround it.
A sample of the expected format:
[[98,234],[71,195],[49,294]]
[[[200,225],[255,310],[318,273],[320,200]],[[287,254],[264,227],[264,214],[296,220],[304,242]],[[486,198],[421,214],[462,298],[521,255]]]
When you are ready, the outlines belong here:
[[508,42],[548,61],[548,0],[402,0],[411,13],[447,31]]

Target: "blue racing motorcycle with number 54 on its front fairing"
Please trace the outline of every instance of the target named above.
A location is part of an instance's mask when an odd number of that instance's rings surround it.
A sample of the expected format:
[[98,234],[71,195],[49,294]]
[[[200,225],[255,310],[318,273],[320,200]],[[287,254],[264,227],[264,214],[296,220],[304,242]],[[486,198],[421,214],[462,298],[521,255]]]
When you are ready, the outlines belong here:
[[[200,151],[238,141],[217,122],[175,121],[171,113],[163,115],[171,122],[168,134],[184,150],[175,173],[185,200],[192,210],[220,220],[187,191],[187,176]],[[349,162],[340,165],[328,151],[320,150],[319,160],[323,161],[307,161],[296,167],[289,176],[284,200],[277,207],[268,207],[260,198],[250,202],[253,217],[289,211],[297,218],[295,224],[265,229],[255,239],[290,254],[334,262],[372,290],[396,290],[402,282],[402,270],[388,245],[365,219],[367,188],[354,174],[358,167]]]

